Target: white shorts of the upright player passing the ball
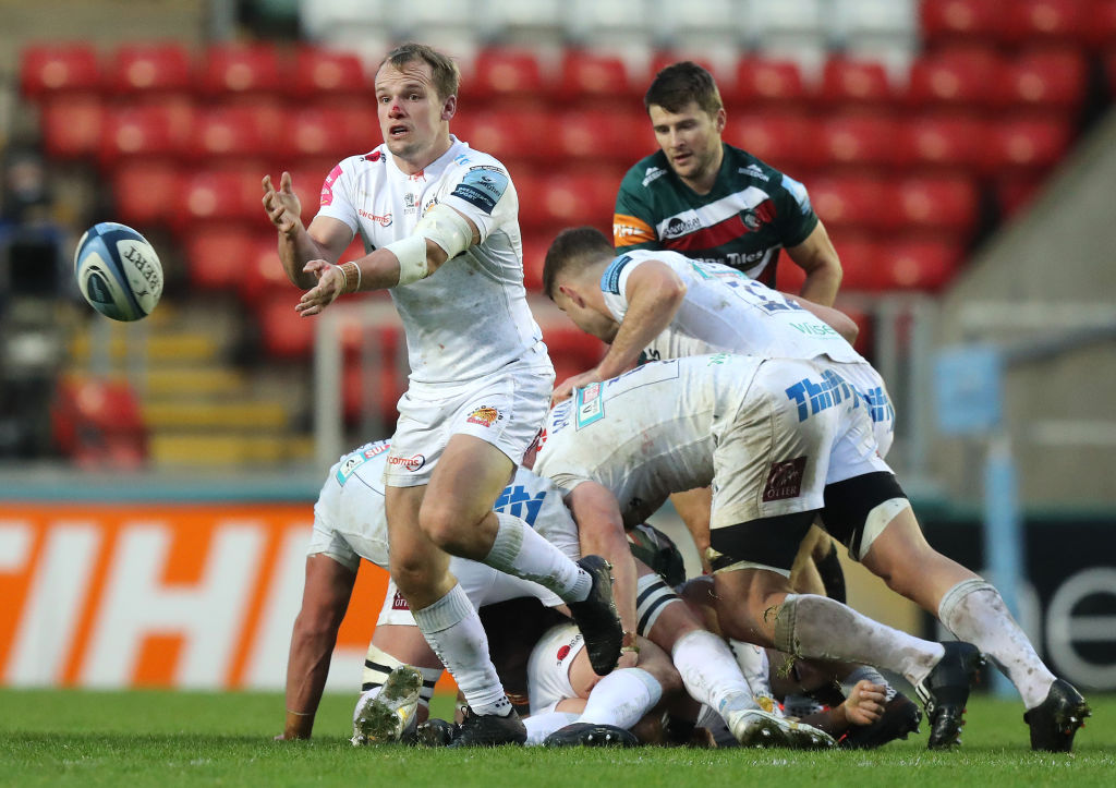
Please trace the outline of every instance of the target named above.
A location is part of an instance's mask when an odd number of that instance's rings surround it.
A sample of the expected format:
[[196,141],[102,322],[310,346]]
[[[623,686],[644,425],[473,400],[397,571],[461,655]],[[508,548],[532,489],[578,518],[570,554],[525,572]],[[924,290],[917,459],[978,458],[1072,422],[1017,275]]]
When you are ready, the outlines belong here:
[[[541,345],[541,343],[540,343]],[[450,438],[475,435],[520,465],[550,406],[554,369],[532,352],[465,384],[412,383],[400,398],[400,419],[384,469],[388,487],[430,483]]]

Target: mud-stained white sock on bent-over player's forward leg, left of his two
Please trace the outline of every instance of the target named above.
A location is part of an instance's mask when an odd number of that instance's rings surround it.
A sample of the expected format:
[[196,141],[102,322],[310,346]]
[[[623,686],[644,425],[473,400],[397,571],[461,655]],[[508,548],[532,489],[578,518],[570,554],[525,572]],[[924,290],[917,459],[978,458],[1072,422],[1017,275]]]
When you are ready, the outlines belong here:
[[775,646],[796,656],[886,667],[912,684],[926,678],[945,653],[924,641],[816,594],[788,594],[775,618]]

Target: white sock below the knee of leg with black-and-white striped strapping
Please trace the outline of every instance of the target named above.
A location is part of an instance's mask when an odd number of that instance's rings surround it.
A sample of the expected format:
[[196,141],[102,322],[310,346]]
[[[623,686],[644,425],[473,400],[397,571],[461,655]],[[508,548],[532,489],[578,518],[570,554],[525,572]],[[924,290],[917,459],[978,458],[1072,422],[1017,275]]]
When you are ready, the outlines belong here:
[[671,650],[671,659],[691,698],[718,713],[759,708],[729,644],[712,632],[683,635]]

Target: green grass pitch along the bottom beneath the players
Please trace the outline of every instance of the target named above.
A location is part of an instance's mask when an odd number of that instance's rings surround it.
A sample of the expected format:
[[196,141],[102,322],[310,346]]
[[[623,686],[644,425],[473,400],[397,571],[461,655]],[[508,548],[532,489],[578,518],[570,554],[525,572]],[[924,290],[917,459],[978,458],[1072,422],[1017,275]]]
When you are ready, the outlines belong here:
[[[348,743],[353,698],[327,695],[312,742],[276,742],[278,694],[0,690],[0,784],[13,786],[1081,786],[1116,785],[1116,695],[1070,756],[1032,753],[1019,702],[973,696],[964,746],[921,736],[872,752],[540,750],[468,752]],[[452,700],[435,699],[444,715]]]

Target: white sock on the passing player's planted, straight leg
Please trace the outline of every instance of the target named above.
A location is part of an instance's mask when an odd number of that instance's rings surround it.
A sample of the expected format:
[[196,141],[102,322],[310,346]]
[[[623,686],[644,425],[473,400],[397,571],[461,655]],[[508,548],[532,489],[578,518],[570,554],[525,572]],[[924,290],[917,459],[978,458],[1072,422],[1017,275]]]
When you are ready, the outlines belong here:
[[430,647],[478,714],[507,714],[511,702],[489,657],[488,635],[461,584],[429,607],[412,611]]

